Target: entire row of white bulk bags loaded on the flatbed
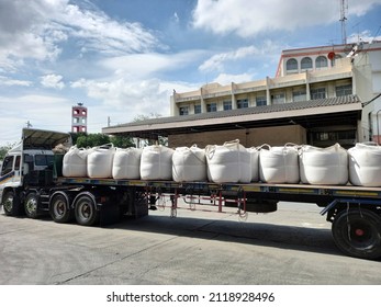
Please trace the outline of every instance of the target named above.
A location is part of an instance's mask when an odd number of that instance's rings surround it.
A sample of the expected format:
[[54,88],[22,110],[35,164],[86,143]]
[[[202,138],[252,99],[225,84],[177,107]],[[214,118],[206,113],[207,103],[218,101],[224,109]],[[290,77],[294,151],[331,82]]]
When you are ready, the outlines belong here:
[[63,161],[64,177],[115,180],[168,180],[215,183],[303,183],[381,186],[381,147],[356,144],[346,150],[338,144],[262,145],[245,148],[239,140],[223,145],[197,145],[171,149],[161,145],[91,149],[71,147]]

